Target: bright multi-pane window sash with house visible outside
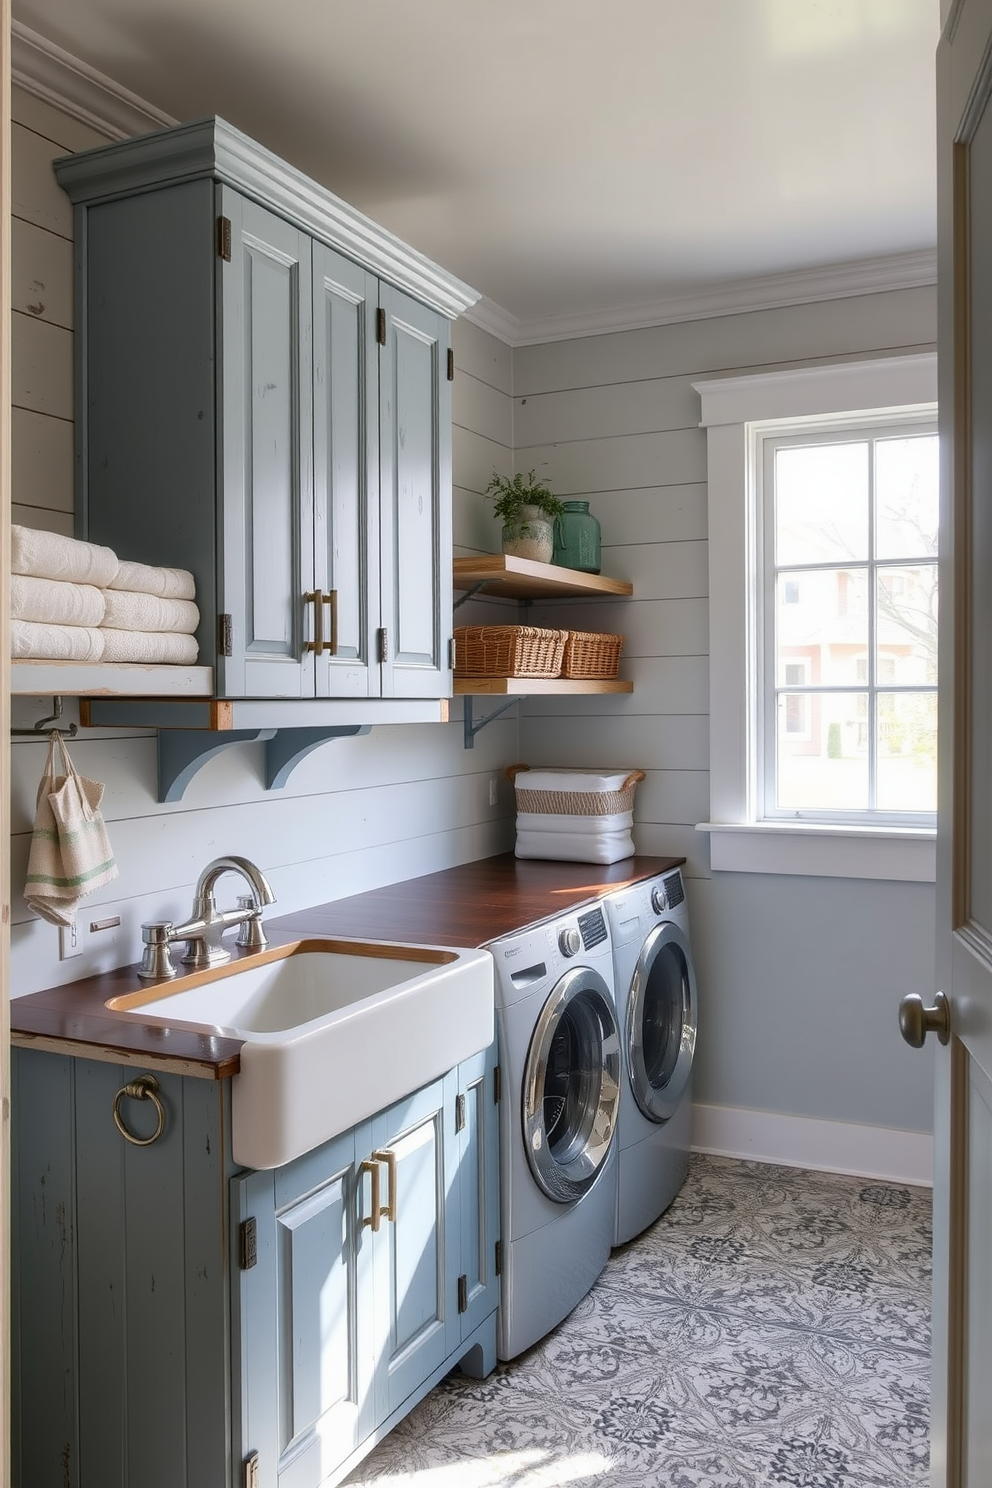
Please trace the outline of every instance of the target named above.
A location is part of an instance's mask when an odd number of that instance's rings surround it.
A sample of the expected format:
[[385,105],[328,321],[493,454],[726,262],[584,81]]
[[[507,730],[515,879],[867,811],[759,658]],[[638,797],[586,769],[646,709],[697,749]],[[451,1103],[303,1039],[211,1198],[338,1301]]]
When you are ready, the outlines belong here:
[[935,427],[769,434],[760,470],[760,815],[933,821]]

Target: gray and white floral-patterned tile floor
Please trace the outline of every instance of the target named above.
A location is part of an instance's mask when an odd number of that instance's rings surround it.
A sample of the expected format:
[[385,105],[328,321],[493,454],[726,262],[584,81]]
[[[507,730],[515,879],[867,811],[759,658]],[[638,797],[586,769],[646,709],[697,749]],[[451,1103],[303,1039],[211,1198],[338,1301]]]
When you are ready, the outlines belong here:
[[452,1375],[379,1488],[925,1488],[930,1193],[695,1158],[549,1338]]

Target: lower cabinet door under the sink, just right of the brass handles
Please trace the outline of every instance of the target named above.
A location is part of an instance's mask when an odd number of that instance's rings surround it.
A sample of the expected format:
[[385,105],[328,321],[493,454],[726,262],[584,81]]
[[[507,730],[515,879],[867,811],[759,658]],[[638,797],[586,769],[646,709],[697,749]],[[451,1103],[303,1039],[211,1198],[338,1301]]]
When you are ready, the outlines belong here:
[[436,1080],[375,1117],[376,1152],[396,1159],[396,1219],[375,1244],[379,1415],[391,1414],[458,1345],[457,1080]]

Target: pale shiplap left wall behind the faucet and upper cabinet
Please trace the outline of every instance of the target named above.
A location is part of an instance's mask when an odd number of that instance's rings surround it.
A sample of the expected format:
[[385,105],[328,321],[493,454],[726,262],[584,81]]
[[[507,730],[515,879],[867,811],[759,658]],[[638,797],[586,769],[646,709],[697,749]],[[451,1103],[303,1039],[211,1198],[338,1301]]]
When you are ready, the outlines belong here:
[[[13,95],[13,519],[73,531],[73,219],[52,174],[59,155],[104,143],[21,89]],[[454,327],[454,479],[457,551],[491,546],[480,491],[494,466],[512,469],[510,351]],[[15,698],[13,722],[31,725],[49,699]],[[67,717],[74,717],[67,705]],[[104,781],[103,801],[120,876],[83,900],[77,917],[120,915],[83,955],[58,960],[57,930],[24,905],[30,827],[45,745],[12,748],[12,992],[137,960],[143,920],[186,915],[199,870],[222,853],[253,859],[269,876],[278,912],[413,878],[512,845],[512,792],[489,806],[489,780],[516,759],[513,714],[463,748],[461,707],[448,725],[373,728],[311,754],[283,790],[262,787],[262,745],[211,760],[181,802],[155,799],[155,735],[83,731],[71,743],[80,774]],[[232,879],[231,902],[238,891]],[[223,893],[223,885],[222,885]],[[382,927],[388,937],[388,926]]]

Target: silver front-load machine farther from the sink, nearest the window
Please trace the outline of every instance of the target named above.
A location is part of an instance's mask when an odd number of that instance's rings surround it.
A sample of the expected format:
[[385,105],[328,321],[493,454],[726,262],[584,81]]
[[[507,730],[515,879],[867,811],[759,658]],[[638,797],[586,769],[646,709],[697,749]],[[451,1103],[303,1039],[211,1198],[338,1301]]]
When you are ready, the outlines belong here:
[[623,1045],[614,1244],[663,1214],[689,1170],[696,972],[678,869],[604,899]]

